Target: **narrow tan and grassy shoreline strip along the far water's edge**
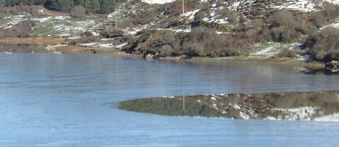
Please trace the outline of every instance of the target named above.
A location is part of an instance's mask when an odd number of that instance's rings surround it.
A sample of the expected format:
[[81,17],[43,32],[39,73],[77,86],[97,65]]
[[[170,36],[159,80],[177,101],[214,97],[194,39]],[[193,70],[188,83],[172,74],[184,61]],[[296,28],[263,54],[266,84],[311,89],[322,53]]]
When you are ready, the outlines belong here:
[[174,57],[160,57],[160,58],[145,58],[141,54],[130,54],[115,48],[100,48],[100,47],[84,47],[79,45],[62,44],[65,38],[63,37],[36,37],[36,38],[0,38],[0,44],[7,45],[48,45],[45,49],[54,50],[58,53],[100,53],[100,54],[116,54],[125,55],[136,58],[143,58],[145,60],[168,60],[168,61],[188,61],[188,62],[239,62],[239,63],[268,63],[268,64],[283,64],[283,65],[300,65],[311,70],[327,70],[326,64],[320,61],[307,61],[305,57],[295,58],[272,58],[269,56],[226,56],[226,57],[192,57],[181,58]]

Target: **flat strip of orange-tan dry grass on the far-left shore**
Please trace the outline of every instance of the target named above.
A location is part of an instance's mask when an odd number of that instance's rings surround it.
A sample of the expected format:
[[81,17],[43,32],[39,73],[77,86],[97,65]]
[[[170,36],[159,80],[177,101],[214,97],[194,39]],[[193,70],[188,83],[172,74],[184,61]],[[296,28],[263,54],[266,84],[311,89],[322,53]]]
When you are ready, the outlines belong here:
[[0,44],[57,45],[64,40],[63,37],[0,38]]

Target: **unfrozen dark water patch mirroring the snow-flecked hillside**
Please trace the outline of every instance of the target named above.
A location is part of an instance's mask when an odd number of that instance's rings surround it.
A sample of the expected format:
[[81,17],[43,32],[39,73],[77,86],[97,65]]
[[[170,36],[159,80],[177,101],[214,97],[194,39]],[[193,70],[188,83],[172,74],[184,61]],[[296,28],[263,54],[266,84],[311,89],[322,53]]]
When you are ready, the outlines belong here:
[[[185,106],[185,110],[184,110]],[[135,99],[119,109],[166,116],[339,121],[339,91],[220,94]]]

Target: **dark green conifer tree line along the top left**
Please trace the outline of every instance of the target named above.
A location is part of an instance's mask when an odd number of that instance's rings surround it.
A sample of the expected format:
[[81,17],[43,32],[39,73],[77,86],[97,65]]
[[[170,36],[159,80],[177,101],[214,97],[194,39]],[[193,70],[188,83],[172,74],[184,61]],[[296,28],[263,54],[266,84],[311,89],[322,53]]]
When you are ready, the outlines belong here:
[[126,0],[0,0],[2,6],[16,5],[44,5],[44,7],[55,10],[70,12],[75,6],[83,6],[87,13],[110,13],[115,6]]

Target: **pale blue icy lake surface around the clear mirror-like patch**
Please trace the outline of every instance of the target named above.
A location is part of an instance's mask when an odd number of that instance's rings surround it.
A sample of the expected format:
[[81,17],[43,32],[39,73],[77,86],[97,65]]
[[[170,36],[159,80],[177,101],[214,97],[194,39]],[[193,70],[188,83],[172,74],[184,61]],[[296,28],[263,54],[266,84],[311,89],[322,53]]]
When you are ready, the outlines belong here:
[[275,64],[0,55],[1,147],[336,147],[337,122],[241,121],[122,111],[161,96],[338,90],[338,75]]

